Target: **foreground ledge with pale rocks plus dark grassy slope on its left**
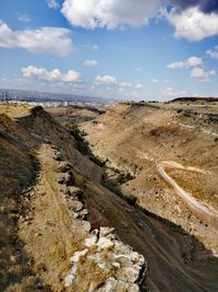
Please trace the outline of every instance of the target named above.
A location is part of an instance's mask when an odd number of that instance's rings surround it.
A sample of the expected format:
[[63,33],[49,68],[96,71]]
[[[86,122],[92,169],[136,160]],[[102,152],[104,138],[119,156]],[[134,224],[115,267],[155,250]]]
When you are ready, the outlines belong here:
[[[71,163],[50,140],[28,133],[5,115],[0,119],[1,219],[5,223],[0,237],[1,291],[140,291],[147,271],[144,257],[123,244],[113,229],[92,229],[84,191],[75,186]],[[28,118],[23,125],[27,122]],[[55,121],[53,127],[59,128]],[[22,140],[25,135],[27,142]],[[23,152],[14,152],[12,145],[4,149],[8,139],[25,147]],[[28,162],[29,147],[34,159]],[[23,155],[20,161],[19,155]],[[28,171],[35,164],[31,180]],[[23,186],[8,189],[12,175],[15,184],[25,177]],[[10,207],[10,196],[15,197],[17,190],[21,195]]]

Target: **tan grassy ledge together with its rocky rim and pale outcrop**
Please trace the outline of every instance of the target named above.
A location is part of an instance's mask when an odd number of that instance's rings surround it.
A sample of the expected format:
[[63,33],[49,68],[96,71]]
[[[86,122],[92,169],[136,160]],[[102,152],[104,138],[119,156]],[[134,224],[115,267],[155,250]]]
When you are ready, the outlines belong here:
[[90,231],[83,190],[74,186],[72,166],[59,151],[43,145],[38,159],[41,172],[28,194],[31,210],[20,218],[19,235],[41,284],[51,291],[140,291],[144,257],[111,229]]

